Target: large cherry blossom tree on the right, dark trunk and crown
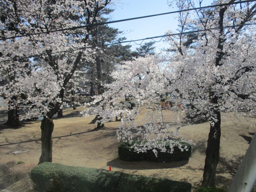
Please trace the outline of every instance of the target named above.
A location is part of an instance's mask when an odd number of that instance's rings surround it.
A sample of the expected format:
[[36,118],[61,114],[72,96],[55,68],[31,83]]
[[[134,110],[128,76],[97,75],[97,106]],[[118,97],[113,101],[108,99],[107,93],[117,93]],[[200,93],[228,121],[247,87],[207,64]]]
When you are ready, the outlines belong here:
[[[215,3],[232,2],[236,0]],[[176,3],[180,9],[195,7],[192,1]],[[203,186],[215,185],[221,135],[220,112],[255,114],[255,30],[247,25],[253,23],[255,14],[254,2],[201,9],[191,16],[188,12],[180,13],[178,19],[184,34],[168,38],[172,50],[177,50],[170,64],[173,74],[170,85],[176,88],[172,94],[191,106],[190,116],[200,114],[210,121]],[[183,44],[187,39],[186,25],[197,31],[204,30],[196,33],[198,38],[194,40],[193,48]]]

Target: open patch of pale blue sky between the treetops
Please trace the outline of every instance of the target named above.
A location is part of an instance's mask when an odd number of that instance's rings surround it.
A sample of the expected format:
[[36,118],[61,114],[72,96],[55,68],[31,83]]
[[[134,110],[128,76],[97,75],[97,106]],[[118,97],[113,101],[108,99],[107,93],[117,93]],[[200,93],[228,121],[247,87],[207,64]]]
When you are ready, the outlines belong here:
[[[111,20],[121,20],[176,10],[176,8],[168,6],[167,0],[123,0],[121,2],[122,3],[116,5],[116,9],[110,17]],[[177,14],[167,14],[145,19],[113,23],[109,24],[109,26],[124,31],[124,36],[127,40],[143,39],[146,37],[164,35],[167,30],[175,31],[178,28],[178,22],[175,19],[175,16],[177,16]],[[160,38],[155,40],[159,41]],[[145,43],[145,41],[143,43]],[[135,43],[132,42],[131,44],[133,45]],[[168,44],[159,42],[156,43],[155,46],[156,52],[160,52],[164,47],[167,48]],[[132,46],[133,49],[135,49],[135,47],[136,46]]]

